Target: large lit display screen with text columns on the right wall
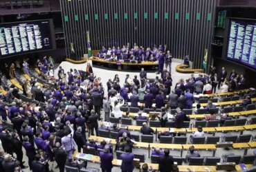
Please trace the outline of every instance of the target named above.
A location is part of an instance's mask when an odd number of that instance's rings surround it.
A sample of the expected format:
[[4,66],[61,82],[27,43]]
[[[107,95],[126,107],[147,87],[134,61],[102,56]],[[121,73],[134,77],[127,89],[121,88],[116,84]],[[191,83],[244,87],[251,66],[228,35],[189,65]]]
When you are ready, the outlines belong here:
[[256,21],[230,19],[227,58],[256,69]]

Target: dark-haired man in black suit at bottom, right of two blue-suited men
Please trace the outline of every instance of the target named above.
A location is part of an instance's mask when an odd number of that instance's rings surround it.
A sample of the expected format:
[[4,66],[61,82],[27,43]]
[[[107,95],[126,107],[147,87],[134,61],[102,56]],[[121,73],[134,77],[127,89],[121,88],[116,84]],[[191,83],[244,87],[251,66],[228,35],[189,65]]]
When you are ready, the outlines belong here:
[[170,172],[173,170],[172,165],[174,164],[174,161],[172,159],[172,155],[170,154],[169,149],[165,149],[164,155],[161,155],[159,157],[159,171],[160,172]]

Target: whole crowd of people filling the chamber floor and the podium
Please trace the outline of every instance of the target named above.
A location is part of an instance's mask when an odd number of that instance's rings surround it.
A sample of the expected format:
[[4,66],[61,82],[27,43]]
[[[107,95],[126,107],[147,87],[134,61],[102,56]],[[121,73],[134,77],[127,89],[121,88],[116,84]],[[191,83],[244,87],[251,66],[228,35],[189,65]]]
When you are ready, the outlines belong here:
[[[138,48],[135,45],[134,49],[131,49],[132,56],[137,56],[137,54],[140,56],[143,52],[143,47]],[[165,52],[165,47],[159,49],[163,49],[161,51]],[[117,50],[111,51],[111,56],[113,54],[122,56],[117,53]],[[129,45],[124,47],[124,50],[129,54]],[[157,48],[154,48],[154,50],[156,53],[158,52]],[[154,50],[150,53],[154,54]],[[147,52],[143,53],[147,54]],[[100,54],[102,55],[104,52],[100,52]],[[108,56],[108,54],[106,52],[105,56]],[[30,90],[26,89],[27,92],[24,92],[24,95],[28,92],[32,94],[32,98],[39,103],[26,103],[17,99],[17,93],[14,94],[13,89],[8,90],[8,94],[1,95],[0,140],[3,150],[0,151],[0,171],[21,171],[22,168],[26,168],[22,147],[26,150],[28,165],[33,172],[49,171],[51,169],[49,162],[53,160],[57,162],[60,172],[64,171],[65,164],[77,168],[86,168],[86,161],[74,159],[72,156],[75,150],[81,152],[84,147],[100,150],[101,168],[104,172],[111,171],[113,151],[118,150],[124,152],[120,155],[122,171],[133,171],[134,154],[132,149],[134,140],[131,133],[127,129],[119,128],[118,125],[106,126],[102,122],[100,123],[100,120],[109,121],[111,116],[122,118],[120,108],[123,105],[130,103],[131,107],[138,107],[138,103],[145,103],[145,108],[161,109],[160,116],[150,118],[150,120],[161,121],[161,127],[165,127],[166,122],[170,120],[167,114],[171,114],[171,110],[176,109],[173,120],[175,127],[180,128],[183,127],[184,121],[190,120],[181,110],[192,109],[194,93],[210,94],[215,92],[217,86],[214,85],[216,83],[219,84],[221,92],[234,90],[244,84],[242,75],[238,77],[233,71],[227,78],[225,69],[221,71],[221,80],[212,80],[212,77],[217,75],[216,70],[212,67],[210,76],[199,74],[198,77],[194,77],[192,75],[188,80],[185,80],[185,83],[181,79],[176,83],[174,89],[171,89],[172,75],[169,70],[163,69],[159,78],[156,76],[154,80],[149,80],[147,72],[142,69],[140,75],[134,76],[134,78],[130,78],[127,74],[124,85],[121,85],[120,78],[116,74],[113,79],[109,79],[107,90],[104,90],[101,78],[94,76],[91,65],[86,67],[86,77],[76,69],[70,69],[65,73],[64,69],[59,67],[57,78],[50,74],[50,71],[54,72],[53,66],[53,63],[46,57],[37,62],[40,71],[44,75],[53,78],[53,87],[42,87],[33,78],[30,80]],[[24,73],[28,74],[28,64],[24,62],[23,67]],[[219,77],[217,76],[217,78]],[[237,85],[240,86],[234,88],[232,84],[231,86],[228,84],[233,82],[237,82]],[[224,87],[224,85],[227,86]],[[250,100],[250,98],[247,99]],[[154,100],[155,107],[153,107]],[[209,103],[208,107],[205,108],[211,108],[212,106]],[[104,114],[104,117],[102,114]],[[139,113],[136,119],[147,119],[147,117]],[[205,119],[213,120],[214,114],[205,117]],[[98,135],[99,128],[118,132],[117,144],[114,149],[109,142],[87,139],[86,132],[89,136]],[[144,123],[140,132],[151,135],[154,130],[147,123]],[[200,132],[199,129],[197,133],[194,133],[194,136],[201,136],[202,133]],[[170,134],[173,133],[166,131],[159,133],[158,136],[169,136]],[[159,150],[155,151],[159,153]],[[173,164],[170,151],[167,149],[161,151],[159,169],[160,171],[170,171]],[[187,159],[196,154],[193,147],[189,153]],[[144,164],[142,168],[143,171],[151,169],[147,164]]]

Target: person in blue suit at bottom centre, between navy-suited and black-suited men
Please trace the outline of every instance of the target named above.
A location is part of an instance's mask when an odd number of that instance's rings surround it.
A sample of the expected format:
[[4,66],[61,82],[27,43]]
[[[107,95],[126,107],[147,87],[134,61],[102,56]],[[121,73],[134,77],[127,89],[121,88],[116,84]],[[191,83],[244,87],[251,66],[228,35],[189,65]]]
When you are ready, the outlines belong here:
[[129,149],[125,147],[125,153],[120,155],[120,160],[122,160],[121,170],[122,172],[132,172],[134,171],[134,153],[129,153]]

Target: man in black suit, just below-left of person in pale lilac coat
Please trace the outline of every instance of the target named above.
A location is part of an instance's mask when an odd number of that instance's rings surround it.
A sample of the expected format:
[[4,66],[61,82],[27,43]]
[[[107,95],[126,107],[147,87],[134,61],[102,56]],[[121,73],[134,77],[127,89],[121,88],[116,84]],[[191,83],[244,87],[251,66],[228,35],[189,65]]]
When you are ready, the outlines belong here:
[[57,162],[57,166],[59,166],[60,172],[64,172],[66,158],[67,158],[68,154],[61,147],[60,142],[56,142],[55,148],[53,149],[53,153],[54,153],[55,161]]

